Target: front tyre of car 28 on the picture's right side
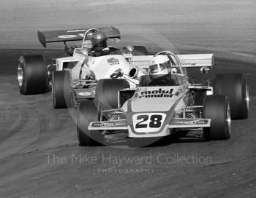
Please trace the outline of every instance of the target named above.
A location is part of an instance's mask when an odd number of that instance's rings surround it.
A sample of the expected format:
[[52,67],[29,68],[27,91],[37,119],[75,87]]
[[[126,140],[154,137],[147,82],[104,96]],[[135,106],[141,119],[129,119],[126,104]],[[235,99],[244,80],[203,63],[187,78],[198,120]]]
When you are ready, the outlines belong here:
[[203,134],[206,140],[227,140],[230,138],[230,105],[225,95],[207,95],[203,104],[203,117],[211,119],[211,127]]

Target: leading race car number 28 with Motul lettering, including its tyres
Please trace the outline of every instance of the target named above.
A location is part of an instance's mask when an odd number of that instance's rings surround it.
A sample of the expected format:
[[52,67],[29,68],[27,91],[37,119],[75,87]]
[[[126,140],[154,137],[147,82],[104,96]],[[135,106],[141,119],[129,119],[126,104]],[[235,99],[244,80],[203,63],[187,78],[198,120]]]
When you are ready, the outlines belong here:
[[105,135],[117,132],[127,134],[129,146],[136,142],[146,146],[191,130],[203,131],[207,141],[227,140],[231,119],[247,118],[249,87],[244,74],[216,74],[213,81],[193,84],[187,67],[199,67],[203,75],[214,64],[212,54],[175,55],[163,51],[144,59],[157,56],[171,63],[163,82],[151,77],[161,65],[157,63],[149,66],[151,73],[140,76],[136,87],[129,87],[121,68],[114,72],[113,79],[99,80],[95,100],[83,101],[78,108],[80,146],[106,145]]

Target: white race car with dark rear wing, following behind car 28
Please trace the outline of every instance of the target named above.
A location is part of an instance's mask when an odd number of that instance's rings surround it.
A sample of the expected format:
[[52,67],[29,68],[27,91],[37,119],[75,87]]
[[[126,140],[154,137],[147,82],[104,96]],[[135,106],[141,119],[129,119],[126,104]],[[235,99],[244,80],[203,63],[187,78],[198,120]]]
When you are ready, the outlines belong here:
[[[67,57],[57,58],[46,66],[42,55],[22,55],[18,60],[18,87],[23,95],[53,92],[53,107],[68,108],[80,100],[94,98],[95,85],[99,79],[110,78],[116,68],[128,74],[129,62],[136,55],[147,55],[143,46],[120,49],[108,46],[108,40],[120,39],[117,28],[83,28],[65,31],[37,33],[41,44],[64,42]],[[67,47],[67,41],[82,41]],[[140,69],[140,74],[143,70]],[[138,79],[130,79],[131,86]]]

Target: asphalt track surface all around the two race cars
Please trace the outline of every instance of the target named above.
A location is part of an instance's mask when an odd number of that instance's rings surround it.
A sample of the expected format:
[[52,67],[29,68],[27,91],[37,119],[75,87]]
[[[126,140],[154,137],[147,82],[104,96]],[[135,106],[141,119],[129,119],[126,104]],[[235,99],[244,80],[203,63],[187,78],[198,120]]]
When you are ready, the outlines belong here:
[[[9,4],[7,1],[3,2],[1,11],[7,9]],[[206,143],[196,134],[190,134],[187,138],[168,145],[150,148],[128,148],[125,141],[118,143],[118,146],[113,144],[108,147],[81,148],[76,136],[74,109],[53,110],[50,93],[31,96],[18,93],[16,69],[20,54],[39,53],[50,61],[51,58],[61,56],[61,52],[14,49],[24,46],[39,48],[39,45],[33,46],[35,42],[39,42],[29,37],[37,28],[67,28],[67,23],[72,24],[70,28],[77,28],[83,23],[72,23],[72,20],[76,19],[74,17],[64,21],[56,16],[57,13],[64,17],[64,13],[68,12],[67,1],[54,1],[56,3],[52,6],[42,5],[41,1],[24,1],[24,4],[15,2],[17,3],[10,1],[13,9],[5,17],[1,14],[6,30],[1,30],[1,47],[9,47],[12,50],[0,51],[0,197],[256,197],[256,68],[253,39],[255,25],[248,25],[249,22],[253,24],[256,21],[255,17],[249,15],[255,6],[254,1],[243,1],[243,4],[232,1],[232,6],[217,1],[214,4],[204,3],[201,7],[197,7],[199,3],[188,5],[185,1],[172,1],[173,4],[161,1],[158,12],[151,9],[155,8],[156,4],[150,1],[129,5],[126,15],[121,19],[123,23],[132,23],[132,28],[143,25],[147,33],[148,29],[159,28],[163,35],[172,31],[174,24],[176,31],[173,32],[173,39],[164,37],[173,43],[181,44],[175,44],[179,52],[214,52],[219,56],[213,74],[244,72],[249,79],[249,119],[232,123],[230,140]],[[64,2],[61,10],[65,12],[59,11],[57,4],[60,2]],[[132,28],[118,19],[118,16],[123,14],[121,8],[126,2],[110,1],[111,4],[105,5],[104,1],[95,1],[84,9],[97,7],[102,12],[115,10],[108,19],[91,17],[89,20],[95,19],[96,25],[105,25],[106,21],[110,21],[108,25],[115,25],[116,20],[119,20],[118,28],[125,32],[124,39],[129,39]],[[172,9],[173,17],[167,14],[157,17],[157,13],[167,12],[167,6]],[[78,15],[74,16],[81,17],[83,9],[77,4],[74,7],[74,12],[78,10]],[[196,8],[203,9],[195,12]],[[45,10],[49,10],[47,17],[43,12]],[[94,13],[98,12],[96,9],[92,10]],[[92,10],[89,12],[90,16],[93,14]],[[219,10],[218,15],[214,15],[216,10]],[[227,10],[230,10],[230,13],[223,14]],[[12,15],[16,12],[23,15],[23,19]],[[237,12],[239,15],[231,19],[230,15]],[[135,20],[140,17],[138,13],[145,17]],[[202,19],[202,15],[206,18]],[[13,16],[16,16],[16,20]],[[34,16],[34,20],[31,16]],[[13,20],[12,25],[15,25],[15,28],[8,25],[9,18]],[[52,18],[54,20],[51,20]],[[238,18],[240,20],[236,22]],[[39,25],[43,24],[40,19],[45,20],[44,24],[48,26]],[[214,22],[216,20],[218,23]],[[160,21],[162,24],[159,25]],[[247,21],[247,24],[243,23],[244,21]],[[183,31],[187,23],[192,24],[191,29]],[[228,23],[231,25],[225,26]],[[199,31],[198,27],[203,27],[204,31]],[[242,27],[244,31],[240,31],[238,27]],[[232,36],[230,32],[234,32],[231,33]],[[154,40],[159,34],[153,32],[149,36]],[[143,36],[145,37],[147,36]],[[219,58],[223,56],[229,59]],[[234,59],[238,57],[239,60]],[[243,62],[244,60],[247,61]],[[167,157],[171,159],[177,155],[211,160],[207,163],[197,161],[194,164],[181,164],[170,160],[167,162]],[[79,157],[83,157],[81,161]],[[111,160],[107,159],[108,157],[111,157]],[[116,164],[115,159],[122,157],[143,159]],[[108,171],[104,171],[105,169]],[[127,170],[129,173],[125,172]]]

